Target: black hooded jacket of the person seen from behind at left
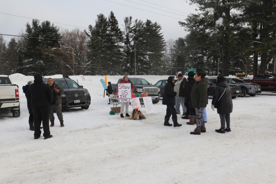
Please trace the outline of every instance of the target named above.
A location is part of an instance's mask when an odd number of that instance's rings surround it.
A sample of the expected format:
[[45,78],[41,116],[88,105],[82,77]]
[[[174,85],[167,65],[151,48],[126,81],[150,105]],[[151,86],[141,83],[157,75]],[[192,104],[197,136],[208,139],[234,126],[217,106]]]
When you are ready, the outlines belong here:
[[49,85],[43,83],[41,74],[34,74],[34,83],[28,89],[31,107],[49,107],[52,98],[52,91]]

